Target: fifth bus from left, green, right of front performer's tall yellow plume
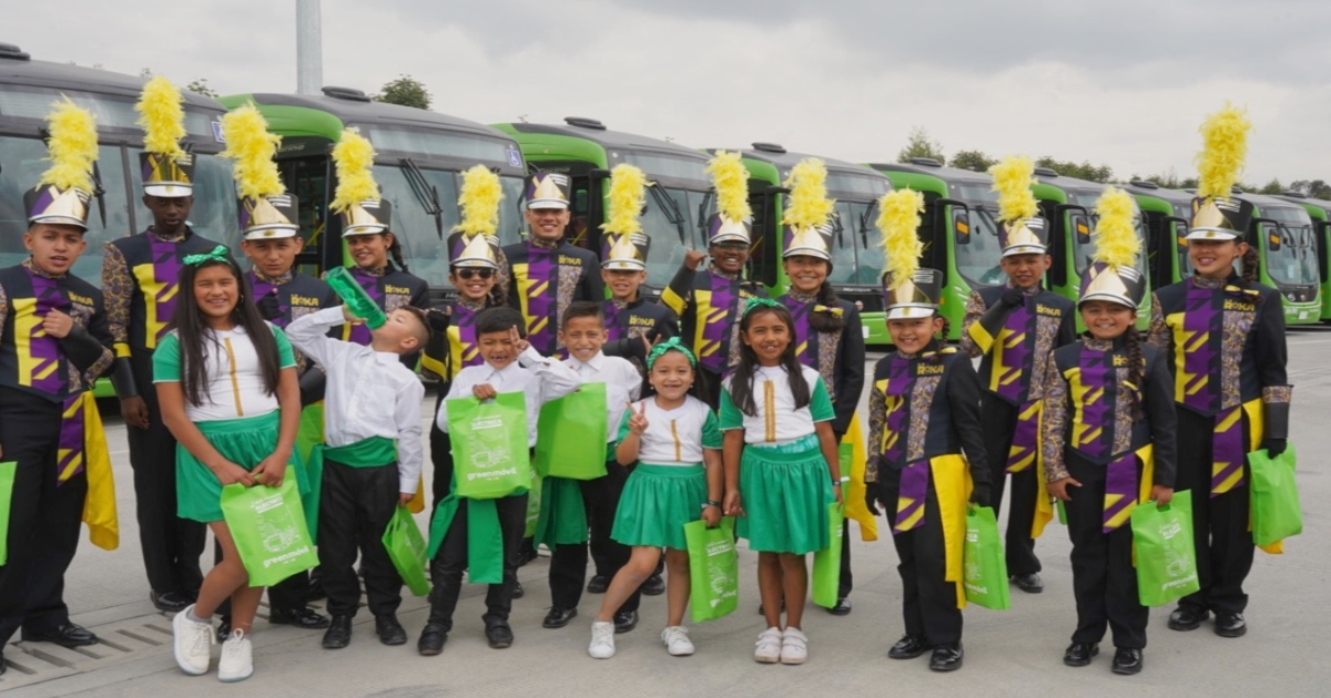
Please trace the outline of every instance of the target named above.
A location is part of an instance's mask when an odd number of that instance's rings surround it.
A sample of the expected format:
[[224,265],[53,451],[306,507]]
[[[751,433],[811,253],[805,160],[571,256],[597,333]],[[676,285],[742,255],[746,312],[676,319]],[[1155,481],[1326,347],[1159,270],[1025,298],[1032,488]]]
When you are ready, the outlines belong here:
[[924,194],[920,225],[924,258],[920,263],[944,274],[942,314],[952,328],[949,339],[961,339],[966,299],[972,291],[1006,282],[998,266],[998,194],[988,173],[944,168],[933,158],[909,162],[870,164],[886,174],[896,189]]

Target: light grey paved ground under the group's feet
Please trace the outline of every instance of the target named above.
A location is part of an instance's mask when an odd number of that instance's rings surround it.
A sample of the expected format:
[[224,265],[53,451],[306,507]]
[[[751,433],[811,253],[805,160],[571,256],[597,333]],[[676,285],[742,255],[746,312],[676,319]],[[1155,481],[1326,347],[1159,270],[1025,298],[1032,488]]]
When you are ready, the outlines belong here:
[[[741,550],[741,609],[720,621],[696,625],[697,654],[672,658],[658,633],[664,625],[664,597],[643,602],[643,622],[619,636],[611,661],[586,654],[591,616],[599,598],[583,598],[568,628],[540,628],[548,605],[547,560],[522,568],[527,597],[515,602],[516,642],[507,650],[484,643],[480,614],[483,588],[469,586],[458,606],[457,628],[439,657],[415,654],[415,636],[425,624],[425,602],[409,597],[401,620],[411,643],[386,647],[374,638],[369,614],[357,617],[349,649],[326,651],[319,633],[256,625],[256,674],[244,683],[221,686],[216,673],[186,677],[170,655],[170,620],[148,602],[133,517],[133,488],[124,427],[109,423],[120,493],[122,545],[106,553],[88,544],[69,570],[65,596],[73,620],[92,628],[102,643],[64,650],[49,643],[16,642],[7,650],[11,667],[0,693],[11,695],[186,695],[196,691],[230,695],[796,695],[837,691],[872,695],[920,691],[920,695],[1102,695],[1131,690],[1142,695],[1327,695],[1331,670],[1331,523],[1319,503],[1331,499],[1322,455],[1331,449],[1331,328],[1296,330],[1290,335],[1290,374],[1295,388],[1292,439],[1303,456],[1299,485],[1304,503],[1303,536],[1287,553],[1258,552],[1248,581],[1252,596],[1250,632],[1225,640],[1206,624],[1193,633],[1165,628],[1166,610],[1151,614],[1146,669],[1138,677],[1115,677],[1109,655],[1086,669],[1065,667],[1059,658],[1075,613],[1071,600],[1070,545],[1058,525],[1038,544],[1045,593],[1013,589],[1013,608],[965,612],[965,667],[932,674],[926,659],[896,662],[886,650],[901,634],[900,581],[896,553],[886,540],[855,546],[855,612],[844,618],[811,608],[805,630],[809,663],[764,666],[752,661],[753,640],[763,630],[757,608],[756,556]],[[870,367],[872,368],[872,367]],[[433,396],[427,399],[433,406]],[[429,445],[427,445],[429,447]],[[429,467],[429,465],[427,465]],[[422,525],[425,517],[421,517]],[[1323,592],[1318,592],[1322,589]],[[261,610],[262,613],[262,610]],[[216,659],[214,659],[216,671]]]

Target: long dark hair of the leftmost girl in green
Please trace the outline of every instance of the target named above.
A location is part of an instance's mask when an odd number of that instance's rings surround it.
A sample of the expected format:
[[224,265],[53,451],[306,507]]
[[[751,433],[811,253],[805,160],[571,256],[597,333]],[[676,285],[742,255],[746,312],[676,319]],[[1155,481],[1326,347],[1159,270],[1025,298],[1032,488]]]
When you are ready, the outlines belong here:
[[245,334],[254,343],[260,372],[264,375],[264,390],[268,395],[277,394],[277,379],[281,372],[277,358],[277,339],[273,338],[273,331],[269,330],[268,323],[258,314],[258,308],[254,307],[254,291],[250,289],[249,278],[241,274],[241,267],[232,258],[232,254],[226,253],[224,259],[208,259],[200,265],[185,265],[180,270],[180,287],[177,291],[184,298],[176,303],[176,312],[166,327],[176,331],[177,340],[180,342],[181,390],[185,394],[185,400],[194,407],[202,406],[204,400],[213,402],[212,396],[206,392],[210,348],[212,351],[225,351],[221,343],[217,342],[217,338],[208,331],[209,327],[204,319],[204,314],[198,310],[198,303],[194,300],[194,278],[200,271],[216,266],[229,269],[232,275],[236,277],[240,298],[237,299],[236,308],[232,310],[232,322],[245,328]]

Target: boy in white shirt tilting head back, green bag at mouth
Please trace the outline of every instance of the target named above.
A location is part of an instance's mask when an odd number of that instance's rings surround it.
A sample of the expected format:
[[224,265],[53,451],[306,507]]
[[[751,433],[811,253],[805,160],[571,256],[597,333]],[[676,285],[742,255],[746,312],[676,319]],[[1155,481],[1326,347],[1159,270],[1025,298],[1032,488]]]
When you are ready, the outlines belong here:
[[[399,505],[415,495],[421,480],[421,400],[425,387],[401,356],[430,338],[425,315],[399,307],[370,331],[370,344],[327,336],[330,327],[361,323],[346,306],[297,318],[286,336],[327,374],[323,398],[318,548],[323,590],[333,622],[325,649],[351,642],[351,618],[361,602],[357,550],[363,560],[365,589],[374,630],[385,645],[402,645],[398,622],[402,577],[383,548],[383,530]],[[321,455],[322,456],[321,456]]]

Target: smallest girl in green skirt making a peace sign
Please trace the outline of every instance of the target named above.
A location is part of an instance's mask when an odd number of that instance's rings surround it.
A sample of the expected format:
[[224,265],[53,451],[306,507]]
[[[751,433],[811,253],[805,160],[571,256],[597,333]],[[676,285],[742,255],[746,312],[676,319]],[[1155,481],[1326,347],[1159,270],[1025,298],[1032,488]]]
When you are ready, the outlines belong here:
[[624,483],[611,537],[632,552],[591,624],[587,654],[598,659],[615,655],[615,613],[656,572],[662,548],[669,570],[662,642],[675,657],[693,654],[683,625],[689,592],[684,524],[699,517],[708,526],[720,523],[723,480],[721,432],[716,413],[696,395],[696,379],[693,352],[679,338],[667,339],[647,356],[646,398],[627,403],[615,459],[639,464]]

